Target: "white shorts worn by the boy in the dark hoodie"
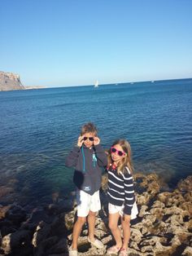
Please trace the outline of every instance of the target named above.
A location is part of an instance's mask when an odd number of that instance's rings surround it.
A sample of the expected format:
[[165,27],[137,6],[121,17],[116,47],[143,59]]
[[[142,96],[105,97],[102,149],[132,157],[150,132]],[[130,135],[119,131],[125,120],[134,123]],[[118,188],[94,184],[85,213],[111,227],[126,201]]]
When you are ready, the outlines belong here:
[[93,196],[85,193],[83,190],[76,190],[76,203],[77,203],[77,216],[86,217],[89,214],[89,210],[97,212],[101,210],[101,201],[99,196],[99,190],[94,192]]

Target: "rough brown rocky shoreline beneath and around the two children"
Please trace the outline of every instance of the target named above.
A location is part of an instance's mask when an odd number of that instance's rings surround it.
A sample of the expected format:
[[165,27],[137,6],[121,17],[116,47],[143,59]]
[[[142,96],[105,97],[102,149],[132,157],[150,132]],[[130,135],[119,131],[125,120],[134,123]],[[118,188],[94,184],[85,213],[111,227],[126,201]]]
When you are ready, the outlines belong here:
[[[163,191],[156,174],[135,174],[139,214],[132,222],[129,256],[192,255],[192,176],[173,191]],[[101,189],[102,210],[96,218],[95,236],[104,249],[87,241],[87,227],[79,239],[79,255],[105,255],[113,245],[107,227],[107,175]],[[17,204],[0,205],[0,256],[67,256],[76,218],[74,193],[34,209]]]

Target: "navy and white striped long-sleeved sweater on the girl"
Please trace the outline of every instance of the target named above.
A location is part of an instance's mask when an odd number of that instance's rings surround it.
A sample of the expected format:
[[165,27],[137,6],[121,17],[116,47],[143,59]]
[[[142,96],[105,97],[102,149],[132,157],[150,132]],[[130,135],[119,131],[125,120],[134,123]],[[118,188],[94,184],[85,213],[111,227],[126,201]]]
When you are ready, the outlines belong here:
[[108,170],[108,200],[112,205],[121,206],[124,204],[124,214],[131,214],[133,203],[135,201],[133,175],[126,168],[124,174],[111,167]]

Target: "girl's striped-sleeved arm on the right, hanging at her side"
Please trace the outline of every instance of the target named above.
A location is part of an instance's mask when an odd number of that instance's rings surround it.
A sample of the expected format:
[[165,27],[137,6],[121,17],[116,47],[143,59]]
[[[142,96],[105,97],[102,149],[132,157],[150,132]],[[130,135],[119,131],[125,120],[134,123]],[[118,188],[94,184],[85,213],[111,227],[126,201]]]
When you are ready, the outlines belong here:
[[133,187],[133,176],[126,172],[123,174],[124,177],[124,214],[131,215],[133,203],[135,201],[134,187]]

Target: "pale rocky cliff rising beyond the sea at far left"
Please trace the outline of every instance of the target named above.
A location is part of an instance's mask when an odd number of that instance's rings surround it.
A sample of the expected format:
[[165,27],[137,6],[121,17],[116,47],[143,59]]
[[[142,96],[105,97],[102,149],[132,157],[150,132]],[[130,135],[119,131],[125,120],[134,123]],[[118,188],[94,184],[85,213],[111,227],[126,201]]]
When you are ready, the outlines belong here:
[[0,71],[0,90],[24,90],[20,76]]

